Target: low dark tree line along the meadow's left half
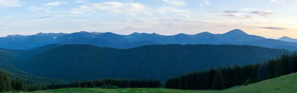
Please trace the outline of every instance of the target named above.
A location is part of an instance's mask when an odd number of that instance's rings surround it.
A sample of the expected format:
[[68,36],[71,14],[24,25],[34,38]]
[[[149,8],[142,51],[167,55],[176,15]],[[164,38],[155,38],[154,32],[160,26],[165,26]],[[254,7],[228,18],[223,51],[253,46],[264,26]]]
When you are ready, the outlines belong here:
[[161,82],[157,79],[98,79],[78,81],[72,83],[26,84],[21,78],[12,79],[6,72],[0,71],[0,92],[33,92],[55,90],[63,88],[160,88]]

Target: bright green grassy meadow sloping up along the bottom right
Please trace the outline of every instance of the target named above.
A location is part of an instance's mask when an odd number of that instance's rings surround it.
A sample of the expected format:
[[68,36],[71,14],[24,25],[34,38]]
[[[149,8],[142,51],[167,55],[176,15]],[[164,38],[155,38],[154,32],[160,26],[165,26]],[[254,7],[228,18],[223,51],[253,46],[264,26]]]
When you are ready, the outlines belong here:
[[33,93],[297,93],[297,74],[262,81],[248,86],[237,86],[223,91],[184,91],[163,88],[139,89],[60,89]]

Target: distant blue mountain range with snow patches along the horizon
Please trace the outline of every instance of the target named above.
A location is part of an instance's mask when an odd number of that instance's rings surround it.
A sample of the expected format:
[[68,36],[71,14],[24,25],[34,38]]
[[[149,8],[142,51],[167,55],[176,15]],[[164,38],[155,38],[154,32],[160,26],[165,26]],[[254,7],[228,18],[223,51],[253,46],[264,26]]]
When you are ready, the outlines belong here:
[[[252,45],[269,48],[297,49],[295,39],[283,37],[279,40],[248,35],[242,30],[235,29],[224,34],[202,32],[195,35],[177,34],[164,36],[156,33],[132,33],[118,35],[114,33],[77,32],[65,33],[39,33],[31,36],[9,35],[0,38],[0,47],[9,49],[34,49],[49,44],[89,44],[99,47],[131,48],[145,45],[164,44],[211,44],[211,45]],[[269,42],[269,43],[268,43]]]

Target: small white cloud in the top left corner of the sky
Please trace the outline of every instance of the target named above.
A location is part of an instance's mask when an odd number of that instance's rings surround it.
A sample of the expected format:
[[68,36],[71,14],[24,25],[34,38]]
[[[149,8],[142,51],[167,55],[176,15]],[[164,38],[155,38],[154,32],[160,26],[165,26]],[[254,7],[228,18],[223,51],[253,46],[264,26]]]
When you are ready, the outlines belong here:
[[19,0],[0,0],[0,7],[19,7],[22,6]]

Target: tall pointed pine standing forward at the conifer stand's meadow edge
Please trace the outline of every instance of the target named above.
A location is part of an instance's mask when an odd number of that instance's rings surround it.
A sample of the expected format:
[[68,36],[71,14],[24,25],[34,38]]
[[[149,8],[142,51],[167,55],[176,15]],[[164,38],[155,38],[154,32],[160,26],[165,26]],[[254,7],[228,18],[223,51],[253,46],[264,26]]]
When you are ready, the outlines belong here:
[[212,83],[212,89],[213,90],[224,90],[226,88],[223,73],[222,73],[222,67],[219,67],[217,69],[216,75],[214,77],[213,83]]

